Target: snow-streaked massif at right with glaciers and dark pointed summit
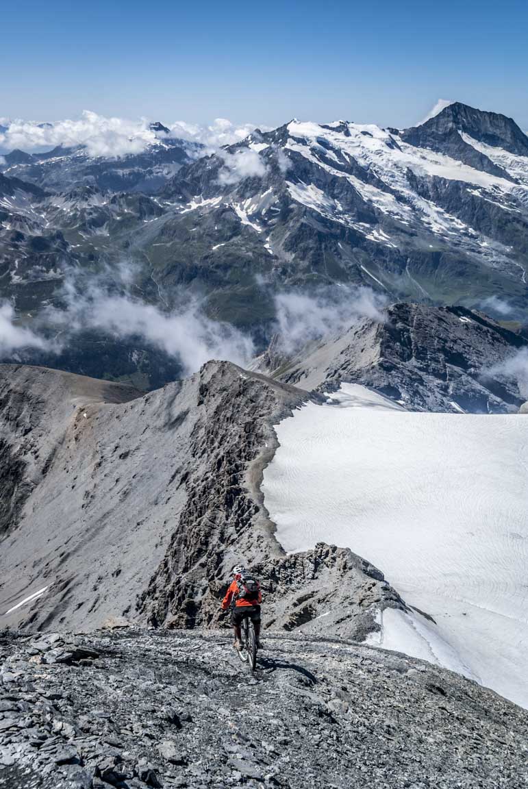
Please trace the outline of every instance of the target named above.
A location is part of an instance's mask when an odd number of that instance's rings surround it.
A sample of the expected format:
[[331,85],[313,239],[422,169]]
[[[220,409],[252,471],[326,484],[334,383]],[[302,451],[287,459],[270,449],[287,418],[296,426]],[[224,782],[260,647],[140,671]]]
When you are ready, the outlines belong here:
[[[164,194],[185,205],[162,235],[192,223],[220,286],[238,266],[241,280],[249,267],[275,284],[353,282],[470,307],[494,295],[524,311],[526,146],[514,122],[462,105],[403,132],[293,121],[183,168]],[[189,254],[198,264],[204,244]]]

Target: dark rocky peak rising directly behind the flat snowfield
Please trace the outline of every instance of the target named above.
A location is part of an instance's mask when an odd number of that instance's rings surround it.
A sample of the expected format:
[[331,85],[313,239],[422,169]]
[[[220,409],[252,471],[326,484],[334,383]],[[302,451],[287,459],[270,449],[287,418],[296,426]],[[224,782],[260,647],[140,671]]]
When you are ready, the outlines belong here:
[[268,355],[264,365],[279,380],[308,389],[362,383],[411,410],[517,411],[518,383],[492,368],[526,347],[526,336],[462,307],[396,304],[384,318],[363,320],[294,359]]

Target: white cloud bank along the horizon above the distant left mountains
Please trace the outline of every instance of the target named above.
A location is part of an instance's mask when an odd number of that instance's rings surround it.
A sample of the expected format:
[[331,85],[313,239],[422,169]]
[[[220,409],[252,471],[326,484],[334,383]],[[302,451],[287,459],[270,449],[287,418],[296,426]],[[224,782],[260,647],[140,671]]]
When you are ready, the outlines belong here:
[[117,158],[138,154],[164,137],[203,144],[208,151],[243,140],[255,128],[254,124],[235,125],[226,118],[216,118],[211,125],[197,125],[178,121],[168,125],[170,133],[154,132],[146,118],[130,121],[125,118],[107,118],[84,110],[77,120],[66,119],[54,123],[30,121],[6,122],[0,131],[0,150],[20,148],[29,153],[47,151],[57,145],[65,148],[86,149],[90,156]]

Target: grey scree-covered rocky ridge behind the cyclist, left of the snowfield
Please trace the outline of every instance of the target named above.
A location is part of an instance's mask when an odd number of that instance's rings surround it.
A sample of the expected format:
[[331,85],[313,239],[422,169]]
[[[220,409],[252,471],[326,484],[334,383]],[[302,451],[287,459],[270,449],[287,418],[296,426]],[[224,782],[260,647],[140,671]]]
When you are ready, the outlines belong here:
[[258,570],[277,629],[361,640],[380,608],[405,608],[352,552],[286,556],[273,537],[260,492],[272,425],[307,392],[210,362],[144,396],[6,365],[0,393],[4,625],[211,626],[240,561]]

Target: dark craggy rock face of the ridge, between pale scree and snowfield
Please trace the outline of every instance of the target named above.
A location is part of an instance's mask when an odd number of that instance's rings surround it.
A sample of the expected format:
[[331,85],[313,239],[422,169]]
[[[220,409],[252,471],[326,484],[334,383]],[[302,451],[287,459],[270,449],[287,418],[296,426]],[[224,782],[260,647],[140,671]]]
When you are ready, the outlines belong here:
[[155,625],[211,623],[234,563],[282,552],[269,537],[258,485],[276,445],[271,424],[308,395],[270,384],[227,364],[207,365],[200,376],[182,468],[185,507],[140,599],[140,611]]

